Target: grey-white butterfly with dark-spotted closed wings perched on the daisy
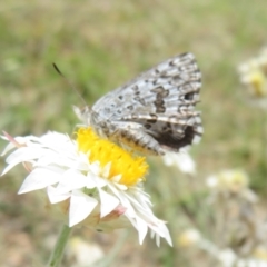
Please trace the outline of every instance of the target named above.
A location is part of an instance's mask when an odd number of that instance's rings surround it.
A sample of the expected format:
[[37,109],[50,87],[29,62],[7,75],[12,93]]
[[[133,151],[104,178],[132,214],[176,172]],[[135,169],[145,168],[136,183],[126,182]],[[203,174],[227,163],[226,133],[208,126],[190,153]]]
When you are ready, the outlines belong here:
[[188,52],[75,111],[100,137],[145,155],[165,155],[200,140],[201,118],[195,111],[200,88],[201,73]]

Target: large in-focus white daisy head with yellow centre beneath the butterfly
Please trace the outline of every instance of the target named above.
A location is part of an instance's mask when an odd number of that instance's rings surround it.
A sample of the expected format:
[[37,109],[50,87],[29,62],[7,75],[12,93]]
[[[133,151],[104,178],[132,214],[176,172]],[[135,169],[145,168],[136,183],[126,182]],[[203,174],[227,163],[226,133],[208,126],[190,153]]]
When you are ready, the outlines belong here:
[[115,144],[98,138],[90,128],[80,128],[76,140],[67,135],[48,132],[41,137],[12,138],[1,156],[2,175],[23,164],[29,175],[19,194],[46,189],[51,205],[68,216],[69,227],[86,225],[97,230],[134,226],[142,244],[148,230],[172,246],[166,222],[151,210],[149,195],[141,184],[148,171],[142,157],[136,157]]

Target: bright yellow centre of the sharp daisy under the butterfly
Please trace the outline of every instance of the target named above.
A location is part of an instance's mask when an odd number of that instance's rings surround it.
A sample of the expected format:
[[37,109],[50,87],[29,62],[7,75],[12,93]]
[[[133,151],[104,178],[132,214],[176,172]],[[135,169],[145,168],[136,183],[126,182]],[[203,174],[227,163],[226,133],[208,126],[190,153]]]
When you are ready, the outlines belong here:
[[88,154],[90,162],[99,161],[103,168],[111,162],[108,179],[121,175],[119,184],[132,186],[145,179],[148,165],[145,157],[134,156],[116,144],[99,138],[92,129],[79,128],[77,131],[78,149]]

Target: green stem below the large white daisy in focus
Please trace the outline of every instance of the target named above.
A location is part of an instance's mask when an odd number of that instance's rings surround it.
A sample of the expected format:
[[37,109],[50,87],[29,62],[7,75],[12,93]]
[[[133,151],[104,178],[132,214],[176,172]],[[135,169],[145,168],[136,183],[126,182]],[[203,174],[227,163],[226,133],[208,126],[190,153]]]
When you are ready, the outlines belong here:
[[48,263],[48,267],[59,267],[62,260],[62,256],[63,256],[63,251],[65,251],[65,247],[67,245],[67,241],[69,239],[70,233],[71,233],[70,227],[68,227],[67,225],[63,225],[58,240],[56,243],[56,246],[53,248],[53,251],[51,253],[49,263]]

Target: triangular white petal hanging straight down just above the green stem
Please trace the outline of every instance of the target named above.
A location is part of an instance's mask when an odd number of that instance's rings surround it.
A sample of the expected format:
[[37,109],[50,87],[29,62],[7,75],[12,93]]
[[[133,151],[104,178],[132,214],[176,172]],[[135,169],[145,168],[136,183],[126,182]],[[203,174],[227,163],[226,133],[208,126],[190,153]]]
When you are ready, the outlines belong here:
[[98,201],[95,198],[87,196],[86,194],[75,190],[70,198],[70,211],[69,211],[69,226],[79,224],[97,206]]

